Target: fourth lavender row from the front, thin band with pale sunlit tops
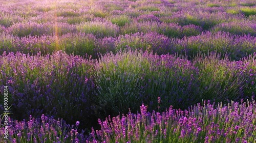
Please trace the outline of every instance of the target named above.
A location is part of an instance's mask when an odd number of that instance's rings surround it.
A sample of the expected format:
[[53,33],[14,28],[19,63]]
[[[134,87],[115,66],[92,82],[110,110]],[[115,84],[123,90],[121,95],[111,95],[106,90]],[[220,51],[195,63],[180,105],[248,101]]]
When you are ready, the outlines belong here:
[[[232,17],[231,20],[214,23],[215,21],[198,21],[181,19],[180,21],[161,22],[153,14],[141,15],[136,20],[132,20],[127,15],[112,16],[113,19],[94,18],[88,22],[80,24],[68,24],[65,22],[18,22],[10,27],[0,27],[0,32],[17,35],[18,37],[42,36],[42,35],[63,35],[67,33],[91,33],[98,37],[115,37],[119,35],[137,33],[137,32],[158,32],[168,37],[182,38],[184,36],[200,35],[203,26],[211,27],[209,31],[225,31],[237,35],[256,36],[255,20],[243,20],[239,16]],[[230,18],[229,18],[230,19]],[[242,19],[242,20],[239,20]],[[201,22],[201,23],[200,23]],[[192,26],[189,26],[192,24]]]

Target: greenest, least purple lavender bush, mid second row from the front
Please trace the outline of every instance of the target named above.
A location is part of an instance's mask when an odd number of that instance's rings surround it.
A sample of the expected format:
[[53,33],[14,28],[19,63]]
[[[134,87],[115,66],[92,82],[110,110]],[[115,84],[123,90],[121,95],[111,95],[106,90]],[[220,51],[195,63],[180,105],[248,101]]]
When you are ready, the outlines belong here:
[[101,59],[96,68],[97,103],[104,116],[125,113],[128,108],[136,112],[143,101],[144,80],[141,77],[149,70],[149,63],[138,53],[120,54],[118,57],[109,54],[111,59]]

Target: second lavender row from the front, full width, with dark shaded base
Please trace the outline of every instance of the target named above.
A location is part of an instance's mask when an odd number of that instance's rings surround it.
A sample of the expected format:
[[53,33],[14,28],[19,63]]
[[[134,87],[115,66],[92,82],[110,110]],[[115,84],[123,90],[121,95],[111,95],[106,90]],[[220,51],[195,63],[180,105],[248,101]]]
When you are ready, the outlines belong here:
[[178,55],[126,51],[106,54],[95,63],[61,51],[46,56],[4,53],[0,92],[8,86],[14,119],[45,113],[90,127],[97,118],[128,108],[136,112],[141,103],[156,109],[158,96],[160,110],[169,105],[186,109],[202,99],[227,102],[254,96],[255,54],[231,62],[214,53],[189,61]]

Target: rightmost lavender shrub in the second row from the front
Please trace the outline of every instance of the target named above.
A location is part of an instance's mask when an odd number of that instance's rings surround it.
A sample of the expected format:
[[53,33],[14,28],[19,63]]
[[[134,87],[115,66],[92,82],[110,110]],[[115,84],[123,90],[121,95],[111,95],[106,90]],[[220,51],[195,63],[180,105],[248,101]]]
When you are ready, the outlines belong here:
[[254,96],[255,55],[254,52],[238,62],[230,62],[225,57],[221,59],[221,55],[216,53],[210,53],[205,58],[198,56],[194,64],[199,68],[199,96],[216,102],[239,101]]

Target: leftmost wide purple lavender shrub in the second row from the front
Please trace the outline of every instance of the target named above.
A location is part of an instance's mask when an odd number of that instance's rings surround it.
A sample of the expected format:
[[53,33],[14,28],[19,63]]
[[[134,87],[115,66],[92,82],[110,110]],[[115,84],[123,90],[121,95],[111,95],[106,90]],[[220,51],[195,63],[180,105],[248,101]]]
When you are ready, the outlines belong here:
[[46,56],[4,53],[0,59],[0,92],[8,86],[13,118],[45,113],[69,123],[79,120],[83,127],[91,123],[95,98],[91,61],[61,51]]

